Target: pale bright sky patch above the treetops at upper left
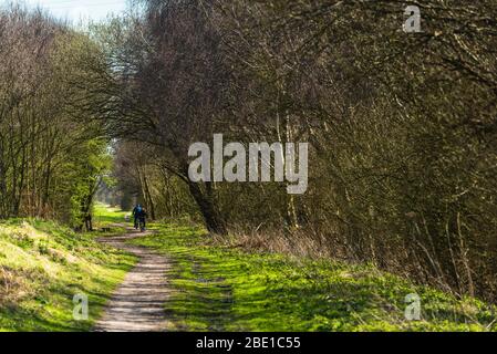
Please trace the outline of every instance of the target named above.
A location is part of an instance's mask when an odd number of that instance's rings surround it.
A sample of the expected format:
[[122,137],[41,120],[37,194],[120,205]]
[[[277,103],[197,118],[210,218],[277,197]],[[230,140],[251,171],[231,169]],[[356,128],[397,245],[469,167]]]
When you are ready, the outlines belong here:
[[80,20],[102,21],[112,13],[118,14],[126,9],[127,0],[0,0],[0,6],[11,2],[24,2],[30,7],[40,6],[56,18],[77,23]]

